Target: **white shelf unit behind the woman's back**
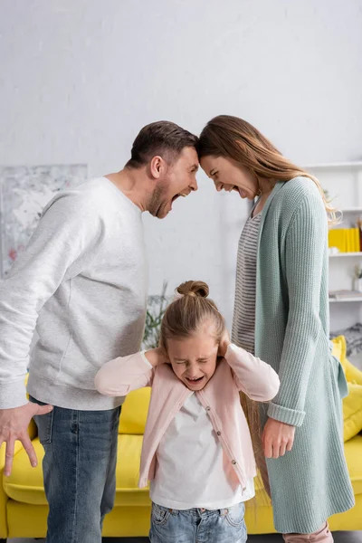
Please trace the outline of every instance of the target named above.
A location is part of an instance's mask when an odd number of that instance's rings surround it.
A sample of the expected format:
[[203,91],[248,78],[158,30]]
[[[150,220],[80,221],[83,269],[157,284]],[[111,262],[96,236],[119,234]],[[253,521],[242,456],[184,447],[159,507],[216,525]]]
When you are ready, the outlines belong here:
[[[316,176],[329,193],[331,204],[342,212],[338,228],[349,228],[362,217],[362,161],[315,164],[305,167]],[[353,289],[354,270],[362,264],[362,252],[339,252],[329,255],[329,291]],[[330,329],[346,329],[362,321],[361,297],[329,299]]]

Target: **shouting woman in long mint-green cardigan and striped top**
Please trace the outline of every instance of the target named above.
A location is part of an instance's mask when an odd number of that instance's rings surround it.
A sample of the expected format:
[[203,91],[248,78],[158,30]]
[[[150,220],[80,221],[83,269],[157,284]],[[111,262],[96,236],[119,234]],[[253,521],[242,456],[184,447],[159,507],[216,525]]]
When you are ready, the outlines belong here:
[[259,409],[275,528],[288,543],[333,541],[328,517],[354,505],[342,439],[347,386],[329,343],[334,210],[318,180],[243,119],[210,120],[198,151],[218,191],[259,196],[239,242],[232,340],[281,379]]

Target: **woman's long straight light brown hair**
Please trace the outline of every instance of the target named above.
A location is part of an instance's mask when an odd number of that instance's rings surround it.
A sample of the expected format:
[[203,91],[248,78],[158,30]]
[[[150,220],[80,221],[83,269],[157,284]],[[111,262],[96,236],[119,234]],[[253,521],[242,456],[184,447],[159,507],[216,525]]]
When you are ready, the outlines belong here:
[[329,205],[317,177],[283,157],[271,141],[246,120],[232,115],[218,115],[209,120],[200,134],[197,152],[199,159],[210,156],[233,158],[258,178],[291,181],[298,176],[309,177],[318,186],[329,223],[338,222],[336,209]]

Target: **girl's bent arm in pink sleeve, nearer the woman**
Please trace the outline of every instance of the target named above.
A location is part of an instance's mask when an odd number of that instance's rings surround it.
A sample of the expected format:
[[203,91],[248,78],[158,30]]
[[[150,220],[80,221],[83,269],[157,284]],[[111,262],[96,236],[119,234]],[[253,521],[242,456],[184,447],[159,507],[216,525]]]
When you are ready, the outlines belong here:
[[[228,338],[228,336],[227,336]],[[257,402],[270,402],[277,395],[280,381],[278,374],[269,364],[253,357],[241,347],[224,339],[220,345],[220,354],[233,369],[234,380],[239,390]]]

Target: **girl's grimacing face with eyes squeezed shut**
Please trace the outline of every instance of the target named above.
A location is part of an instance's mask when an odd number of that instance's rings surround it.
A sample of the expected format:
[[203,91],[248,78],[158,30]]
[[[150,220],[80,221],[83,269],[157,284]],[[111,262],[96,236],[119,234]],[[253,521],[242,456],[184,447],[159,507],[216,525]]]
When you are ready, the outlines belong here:
[[195,391],[204,388],[214,375],[218,348],[210,322],[188,338],[167,339],[172,369],[187,388]]

